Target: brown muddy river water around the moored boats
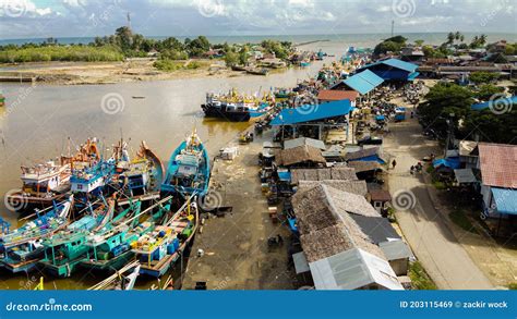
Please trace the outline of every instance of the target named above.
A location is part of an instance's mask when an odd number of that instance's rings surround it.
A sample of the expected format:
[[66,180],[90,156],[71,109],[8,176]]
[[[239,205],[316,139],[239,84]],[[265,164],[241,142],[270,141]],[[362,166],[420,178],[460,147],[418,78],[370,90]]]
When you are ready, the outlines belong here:
[[[5,96],[7,107],[0,109],[1,198],[21,186],[21,164],[29,165],[67,154],[69,137],[75,145],[88,137],[97,137],[104,148],[111,148],[122,134],[124,139],[130,139],[132,154],[141,140],[146,140],[166,162],[181,140],[196,128],[211,154],[215,154],[248,123],[204,119],[201,103],[207,91],[236,87],[239,91],[252,94],[270,87],[294,86],[298,79],[315,76],[323,63],[329,63],[332,59],[268,76],[83,86],[2,84],[0,91]],[[0,217],[10,221],[12,228],[16,225],[16,213],[9,211],[3,200],[0,203]],[[180,272],[179,267],[177,265],[171,271],[175,277]],[[71,279],[46,277],[46,290],[87,289],[106,277],[79,272]],[[0,289],[32,289],[40,275],[37,271],[13,275],[0,269]],[[140,278],[137,289],[146,289],[153,283],[157,281]]]

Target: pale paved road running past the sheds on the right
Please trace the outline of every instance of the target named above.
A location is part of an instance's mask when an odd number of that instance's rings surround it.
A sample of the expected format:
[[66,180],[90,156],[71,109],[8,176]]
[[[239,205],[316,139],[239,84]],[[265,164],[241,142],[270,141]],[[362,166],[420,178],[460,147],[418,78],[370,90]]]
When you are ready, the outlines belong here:
[[396,217],[417,258],[441,290],[494,289],[448,229],[422,176],[409,174],[419,159],[438,154],[435,143],[422,137],[414,120],[394,124],[390,130],[384,151],[396,158],[397,165],[389,170],[389,191],[394,203],[398,199],[399,206],[409,207]]

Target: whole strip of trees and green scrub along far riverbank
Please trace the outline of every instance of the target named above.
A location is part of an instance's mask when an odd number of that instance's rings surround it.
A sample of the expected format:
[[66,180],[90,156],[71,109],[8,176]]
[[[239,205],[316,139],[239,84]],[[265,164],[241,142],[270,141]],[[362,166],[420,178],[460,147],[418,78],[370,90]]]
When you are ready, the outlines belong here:
[[[0,63],[13,62],[47,62],[47,61],[121,61],[124,58],[145,58],[159,56],[156,63],[160,70],[177,70],[179,66],[170,61],[192,58],[220,58],[229,65],[245,64],[253,47],[261,47],[265,53],[275,53],[279,59],[287,60],[292,52],[291,42],[264,40],[260,45],[213,45],[204,36],[187,38],[183,42],[175,37],[163,40],[145,38],[134,34],[129,27],[116,29],[113,35],[96,37],[88,45],[59,45],[53,38],[43,44],[25,44],[22,46],[0,46]],[[217,50],[217,53],[214,53]],[[187,68],[194,68],[194,66]],[[197,66],[199,68],[199,66]]]

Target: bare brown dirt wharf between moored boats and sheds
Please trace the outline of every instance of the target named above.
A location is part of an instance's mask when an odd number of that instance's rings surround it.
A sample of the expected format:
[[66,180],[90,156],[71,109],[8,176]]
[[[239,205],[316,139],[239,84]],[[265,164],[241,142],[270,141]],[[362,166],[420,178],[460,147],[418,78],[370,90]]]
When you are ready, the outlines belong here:
[[[239,147],[237,158],[215,161],[211,189],[219,206],[232,211],[224,217],[208,214],[195,236],[183,290],[194,289],[197,282],[206,283],[207,290],[293,289],[286,253],[289,231],[269,219],[261,192],[257,155],[264,140],[270,136],[248,145],[239,145],[236,138],[228,146]],[[268,248],[267,238],[278,234],[286,238],[285,246]]]

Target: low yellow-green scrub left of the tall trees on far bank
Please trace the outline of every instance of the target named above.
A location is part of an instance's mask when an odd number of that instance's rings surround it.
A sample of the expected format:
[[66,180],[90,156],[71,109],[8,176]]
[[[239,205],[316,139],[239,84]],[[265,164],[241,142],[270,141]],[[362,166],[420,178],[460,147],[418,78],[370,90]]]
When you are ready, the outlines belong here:
[[20,48],[0,51],[1,63],[47,62],[47,61],[121,61],[124,56],[118,48],[103,46],[52,46]]

